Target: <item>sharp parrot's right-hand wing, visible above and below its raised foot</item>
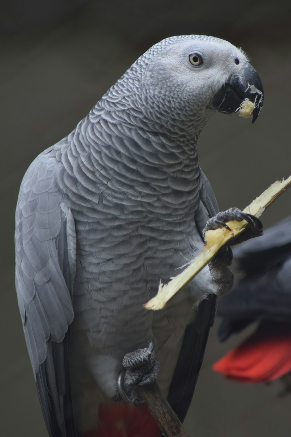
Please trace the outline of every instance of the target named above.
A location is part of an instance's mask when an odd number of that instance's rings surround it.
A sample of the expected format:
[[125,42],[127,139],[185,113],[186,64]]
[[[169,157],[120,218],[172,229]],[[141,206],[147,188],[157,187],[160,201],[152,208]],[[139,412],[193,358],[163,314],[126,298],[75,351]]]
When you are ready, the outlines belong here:
[[[201,169],[200,172],[202,188],[195,223],[202,238],[205,224],[209,217],[217,214],[218,206],[208,179]],[[209,329],[214,322],[215,310],[216,296],[211,295],[200,303],[195,320],[185,330],[181,351],[168,393],[168,402],[182,422],[192,401]]]

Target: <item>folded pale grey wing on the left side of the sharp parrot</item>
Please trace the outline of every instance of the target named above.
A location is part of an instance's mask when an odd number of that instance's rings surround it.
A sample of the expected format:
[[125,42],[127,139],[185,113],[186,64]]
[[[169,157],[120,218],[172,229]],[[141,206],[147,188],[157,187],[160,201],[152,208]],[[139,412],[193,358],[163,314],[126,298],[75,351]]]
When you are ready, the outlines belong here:
[[75,225],[55,185],[56,166],[51,148],[27,170],[15,230],[18,304],[51,437],[75,435],[68,361]]

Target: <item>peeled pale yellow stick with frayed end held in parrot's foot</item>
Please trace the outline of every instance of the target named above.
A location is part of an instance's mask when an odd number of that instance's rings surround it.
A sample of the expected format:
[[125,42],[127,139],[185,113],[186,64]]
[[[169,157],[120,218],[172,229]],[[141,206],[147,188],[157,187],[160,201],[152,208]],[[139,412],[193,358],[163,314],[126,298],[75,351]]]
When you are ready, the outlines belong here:
[[[264,193],[257,197],[243,212],[260,217],[264,210],[271,205],[291,185],[291,176],[287,180],[277,180]],[[144,306],[146,309],[162,309],[193,277],[215,257],[219,249],[231,238],[243,232],[248,222],[226,222],[229,229],[220,228],[205,232],[204,250],[194,260],[189,262],[188,267],[180,274],[171,279],[168,284],[160,284],[157,295],[149,300]]]

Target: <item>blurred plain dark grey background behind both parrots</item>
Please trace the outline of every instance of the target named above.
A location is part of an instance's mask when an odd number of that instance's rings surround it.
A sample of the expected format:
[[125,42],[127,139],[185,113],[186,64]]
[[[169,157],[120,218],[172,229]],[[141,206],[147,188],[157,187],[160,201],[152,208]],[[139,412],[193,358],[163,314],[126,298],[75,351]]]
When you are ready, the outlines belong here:
[[[254,125],[215,114],[199,139],[200,165],[220,209],[244,208],[291,174],[290,18],[291,3],[281,0],[2,0],[1,436],[48,435],[14,291],[14,209],[27,166],[71,132],[152,44],[171,35],[214,35],[242,46],[264,84],[264,109]],[[290,215],[290,201],[291,190],[264,213],[264,226]],[[278,398],[278,384],[238,385],[212,372],[212,363],[237,343],[218,344],[212,329],[185,421],[189,434],[291,435],[291,397]]]

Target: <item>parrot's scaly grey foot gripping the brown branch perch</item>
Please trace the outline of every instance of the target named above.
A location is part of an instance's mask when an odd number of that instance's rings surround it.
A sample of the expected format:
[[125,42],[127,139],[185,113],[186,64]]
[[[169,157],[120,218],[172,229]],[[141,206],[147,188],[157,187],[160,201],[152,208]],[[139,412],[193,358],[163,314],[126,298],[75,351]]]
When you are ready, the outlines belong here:
[[117,378],[117,389],[122,399],[127,399],[140,406],[144,401],[140,398],[137,385],[151,384],[156,381],[160,363],[155,359],[154,343],[148,348],[137,349],[124,355],[123,371]]

